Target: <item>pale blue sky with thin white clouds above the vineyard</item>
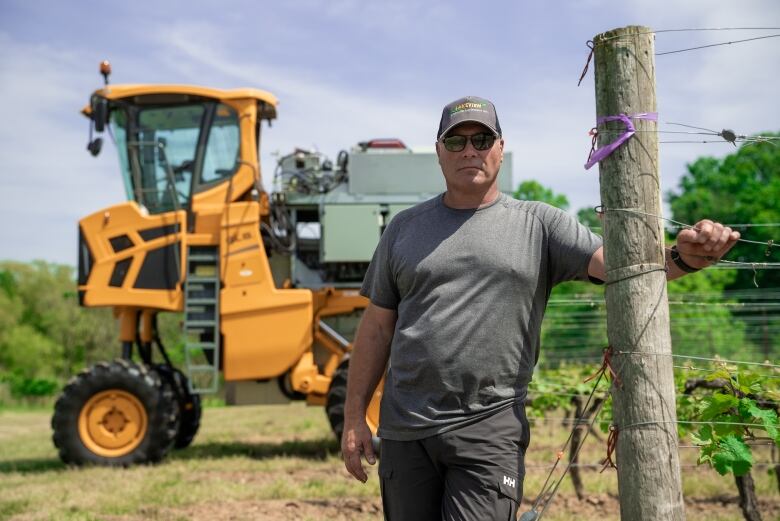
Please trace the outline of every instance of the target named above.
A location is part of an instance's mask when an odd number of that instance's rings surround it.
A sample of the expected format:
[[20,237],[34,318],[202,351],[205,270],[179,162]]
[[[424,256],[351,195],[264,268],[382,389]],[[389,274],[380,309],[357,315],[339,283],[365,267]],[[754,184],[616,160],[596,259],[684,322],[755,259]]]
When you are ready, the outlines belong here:
[[[264,134],[275,151],[331,157],[372,137],[432,145],[441,107],[493,100],[517,184],[536,179],[572,209],[599,204],[584,171],[595,101],[577,87],[585,42],[626,25],[653,29],[778,27],[776,0],[457,0],[372,2],[0,0],[0,259],[75,264],[76,223],[124,199],[115,150],[85,150],[79,114],[101,86],[193,83],[258,87],[280,99]],[[658,52],[780,31],[661,33]],[[780,38],[669,56],[656,63],[660,121],[740,133],[780,130]],[[728,144],[661,145],[663,188],[685,164]],[[508,172],[502,172],[507,175]]]

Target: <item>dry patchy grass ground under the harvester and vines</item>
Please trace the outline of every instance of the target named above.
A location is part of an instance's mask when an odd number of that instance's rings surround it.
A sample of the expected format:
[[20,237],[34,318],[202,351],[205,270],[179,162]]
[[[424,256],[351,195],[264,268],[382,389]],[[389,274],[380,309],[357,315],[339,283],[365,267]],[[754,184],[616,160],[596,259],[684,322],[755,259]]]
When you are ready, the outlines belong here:
[[[349,479],[321,408],[302,404],[209,408],[194,444],[156,466],[63,466],[51,443],[48,410],[0,412],[0,520],[380,520],[376,469],[367,484]],[[532,432],[525,490],[535,495],[568,431],[540,421]],[[583,462],[603,457],[588,440]],[[733,477],[689,468],[681,449],[689,521],[739,520]],[[771,461],[759,447],[756,462]],[[780,519],[780,494],[766,467],[753,471],[764,520]],[[567,477],[547,521],[619,519],[615,471],[583,469],[587,498]],[[527,509],[527,503],[523,507]],[[522,510],[522,509],[521,509]]]

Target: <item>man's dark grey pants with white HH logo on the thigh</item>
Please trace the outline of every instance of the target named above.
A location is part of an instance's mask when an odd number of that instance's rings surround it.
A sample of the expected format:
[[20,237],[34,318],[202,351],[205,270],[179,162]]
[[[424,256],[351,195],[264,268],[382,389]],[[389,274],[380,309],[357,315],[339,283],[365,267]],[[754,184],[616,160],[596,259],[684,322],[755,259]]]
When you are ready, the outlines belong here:
[[522,403],[415,441],[382,440],[387,521],[513,520],[523,497],[531,435]]

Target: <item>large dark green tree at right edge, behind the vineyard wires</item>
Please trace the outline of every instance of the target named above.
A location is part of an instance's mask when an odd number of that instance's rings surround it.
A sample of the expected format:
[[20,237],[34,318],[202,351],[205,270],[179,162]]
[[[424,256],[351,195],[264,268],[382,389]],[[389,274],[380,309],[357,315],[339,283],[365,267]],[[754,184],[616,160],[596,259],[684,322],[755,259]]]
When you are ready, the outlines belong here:
[[[771,134],[769,134],[771,135]],[[774,134],[777,137],[780,134]],[[780,146],[777,142],[742,145],[723,159],[702,157],[688,165],[677,190],[667,193],[675,220],[693,224],[701,218],[725,224],[744,239],[777,243],[780,230]],[[751,226],[748,226],[751,225]],[[776,246],[776,245],[775,245]],[[780,262],[780,248],[739,242],[726,260],[746,263]],[[721,267],[728,267],[723,264]],[[772,288],[780,287],[780,270],[728,270],[733,276],[724,286],[742,308],[734,307],[733,324],[744,329],[749,358],[775,359],[780,340],[780,312],[767,305],[776,301]],[[714,270],[710,270],[714,271]],[[776,291],[776,290],[775,290]],[[749,352],[752,351],[752,356]],[[740,358],[742,359],[742,358]]]

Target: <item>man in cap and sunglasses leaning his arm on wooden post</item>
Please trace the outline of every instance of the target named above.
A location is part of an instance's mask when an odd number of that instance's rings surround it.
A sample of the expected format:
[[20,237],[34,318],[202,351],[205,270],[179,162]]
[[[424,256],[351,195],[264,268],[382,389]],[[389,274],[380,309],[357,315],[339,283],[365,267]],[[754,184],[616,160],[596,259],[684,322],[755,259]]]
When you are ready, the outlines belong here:
[[[350,361],[342,451],[365,482],[375,456],[366,407],[387,367],[379,476],[390,521],[514,519],[530,435],[523,405],[553,286],[606,279],[601,239],[569,214],[498,189],[495,107],[444,107],[444,194],[399,213],[361,289],[371,300]],[[739,238],[711,221],[680,232],[672,279]]]

